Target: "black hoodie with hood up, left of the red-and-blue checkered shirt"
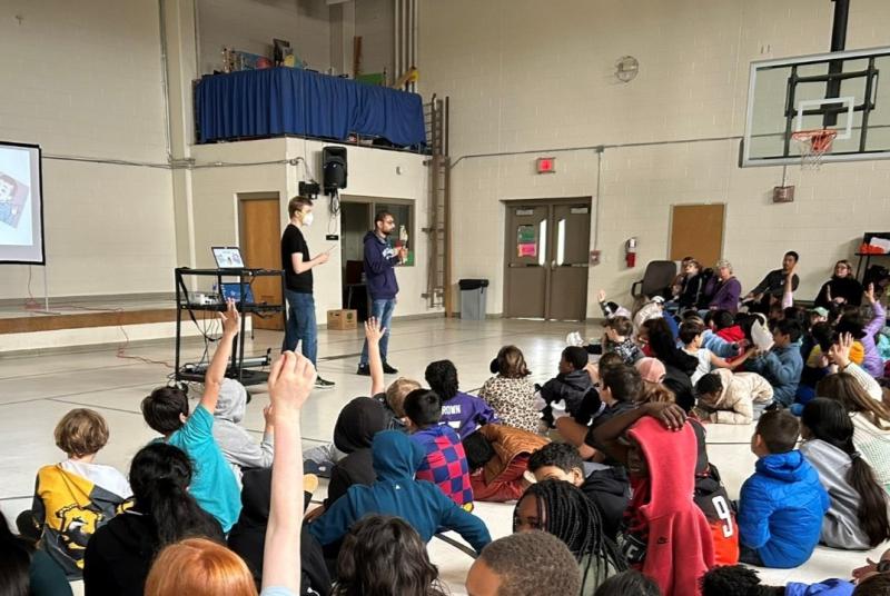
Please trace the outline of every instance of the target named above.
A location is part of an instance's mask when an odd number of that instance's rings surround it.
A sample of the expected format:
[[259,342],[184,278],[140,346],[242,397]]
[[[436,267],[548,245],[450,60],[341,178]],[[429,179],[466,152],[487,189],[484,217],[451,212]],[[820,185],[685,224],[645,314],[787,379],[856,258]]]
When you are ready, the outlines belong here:
[[325,508],[344,496],[350,486],[370,486],[377,479],[370,444],[374,435],[386,430],[386,424],[383,406],[369,397],[356,397],[340,410],[334,427],[334,445],[347,455],[330,470]]

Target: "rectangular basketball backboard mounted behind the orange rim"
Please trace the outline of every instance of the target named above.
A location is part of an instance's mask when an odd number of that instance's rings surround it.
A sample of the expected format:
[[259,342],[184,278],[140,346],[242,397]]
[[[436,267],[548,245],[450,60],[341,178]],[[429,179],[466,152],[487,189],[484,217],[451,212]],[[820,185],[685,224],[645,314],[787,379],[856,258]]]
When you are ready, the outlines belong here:
[[890,48],[751,62],[740,165],[800,163],[792,137],[822,129],[834,135],[823,163],[890,159],[888,76]]

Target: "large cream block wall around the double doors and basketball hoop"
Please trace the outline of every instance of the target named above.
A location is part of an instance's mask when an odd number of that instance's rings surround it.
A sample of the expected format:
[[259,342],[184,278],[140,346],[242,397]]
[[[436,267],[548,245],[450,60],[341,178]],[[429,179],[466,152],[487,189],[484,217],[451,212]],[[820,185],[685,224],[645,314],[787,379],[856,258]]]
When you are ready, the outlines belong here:
[[[789,170],[795,202],[773,205],[781,168],[739,169],[751,60],[823,52],[833,4],[828,0],[531,0],[421,2],[421,86],[451,97],[451,152],[467,158],[452,175],[454,279],[492,279],[490,311],[502,310],[504,208],[516,198],[597,195],[593,150],[553,153],[557,173],[536,176],[548,149],[621,143],[603,156],[603,264],[591,269],[593,294],[626,300],[643,267],[623,266],[623,242],[640,239],[637,262],[665,258],[674,203],[728,203],[724,256],[751,288],[782,254],[801,254],[800,298],[814,297],[838,258],[863,231],[890,226],[890,161]],[[848,49],[887,44],[890,3],[851,6]],[[640,76],[624,85],[615,61],[633,54]],[[680,141],[680,142],[676,142]],[[537,151],[540,149],[540,151]],[[496,234],[495,234],[496,230]],[[592,242],[593,246],[593,242]]]

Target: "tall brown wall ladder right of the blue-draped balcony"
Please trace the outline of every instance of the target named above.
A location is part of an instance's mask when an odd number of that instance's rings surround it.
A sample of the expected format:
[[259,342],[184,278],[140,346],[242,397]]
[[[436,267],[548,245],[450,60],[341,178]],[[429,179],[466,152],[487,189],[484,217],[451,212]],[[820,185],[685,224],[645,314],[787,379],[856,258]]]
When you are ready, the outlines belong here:
[[423,228],[429,252],[426,298],[431,308],[444,307],[452,312],[451,259],[451,158],[448,157],[448,98],[433,99],[425,106],[427,139],[429,139],[429,215]]

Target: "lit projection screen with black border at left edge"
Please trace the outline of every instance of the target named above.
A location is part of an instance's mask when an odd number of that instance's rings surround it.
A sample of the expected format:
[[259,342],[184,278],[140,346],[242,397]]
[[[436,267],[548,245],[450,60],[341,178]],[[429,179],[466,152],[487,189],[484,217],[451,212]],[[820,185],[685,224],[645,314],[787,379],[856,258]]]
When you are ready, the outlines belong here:
[[0,142],[0,262],[43,264],[40,148]]

